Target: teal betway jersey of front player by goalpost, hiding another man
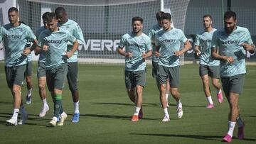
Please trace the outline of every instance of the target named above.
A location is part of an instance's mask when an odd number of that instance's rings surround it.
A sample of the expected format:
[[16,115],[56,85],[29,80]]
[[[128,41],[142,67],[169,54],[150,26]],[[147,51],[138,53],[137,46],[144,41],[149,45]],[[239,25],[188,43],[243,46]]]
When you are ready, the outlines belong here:
[[170,31],[161,30],[156,33],[156,46],[160,46],[159,65],[164,67],[176,67],[179,65],[179,58],[174,52],[179,51],[181,43],[185,43],[186,36],[177,28]]

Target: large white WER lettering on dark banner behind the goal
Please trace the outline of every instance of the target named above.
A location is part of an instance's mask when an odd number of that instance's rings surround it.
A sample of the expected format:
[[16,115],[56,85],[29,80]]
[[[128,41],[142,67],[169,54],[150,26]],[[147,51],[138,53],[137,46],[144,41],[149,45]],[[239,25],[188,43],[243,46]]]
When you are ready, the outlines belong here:
[[117,51],[120,40],[87,40],[84,45],[80,45],[78,50],[85,51]]

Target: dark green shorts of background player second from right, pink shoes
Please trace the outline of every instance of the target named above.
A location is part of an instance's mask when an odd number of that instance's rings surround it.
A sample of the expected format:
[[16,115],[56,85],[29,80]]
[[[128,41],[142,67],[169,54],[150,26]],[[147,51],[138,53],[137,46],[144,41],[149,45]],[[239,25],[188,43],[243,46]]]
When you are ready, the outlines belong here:
[[206,74],[208,74],[212,78],[219,79],[220,78],[220,66],[200,65],[199,66],[200,77],[203,77]]

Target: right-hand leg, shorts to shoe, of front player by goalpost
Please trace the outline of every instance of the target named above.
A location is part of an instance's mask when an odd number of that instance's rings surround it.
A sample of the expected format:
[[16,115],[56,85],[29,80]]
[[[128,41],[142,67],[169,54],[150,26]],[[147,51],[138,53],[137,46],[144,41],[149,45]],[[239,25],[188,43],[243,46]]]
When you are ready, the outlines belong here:
[[179,66],[169,68],[169,82],[171,95],[176,100],[177,116],[183,116],[183,109],[181,104],[181,94],[178,92],[179,86]]

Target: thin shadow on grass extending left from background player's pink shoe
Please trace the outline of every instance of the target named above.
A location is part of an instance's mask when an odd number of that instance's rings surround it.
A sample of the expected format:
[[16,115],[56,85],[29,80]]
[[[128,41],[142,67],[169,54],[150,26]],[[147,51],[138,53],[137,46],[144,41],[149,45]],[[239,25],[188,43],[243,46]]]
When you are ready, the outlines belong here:
[[[105,103],[105,102],[92,102],[91,104],[107,104],[107,105],[120,105],[120,106],[134,106],[134,104],[127,103]],[[161,106],[157,103],[143,103],[143,106]],[[169,104],[169,106],[176,106],[176,104]],[[183,107],[206,107],[206,106],[192,106],[192,105],[182,105]]]

